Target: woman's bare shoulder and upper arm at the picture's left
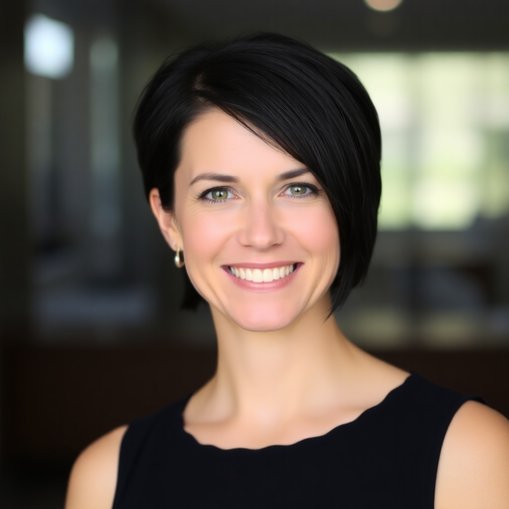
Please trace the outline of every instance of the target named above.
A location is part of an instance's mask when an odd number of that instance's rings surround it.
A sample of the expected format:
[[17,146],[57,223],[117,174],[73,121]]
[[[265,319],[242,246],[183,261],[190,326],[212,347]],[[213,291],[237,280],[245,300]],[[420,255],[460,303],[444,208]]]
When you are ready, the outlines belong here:
[[79,455],[69,477],[66,509],[111,509],[126,429],[127,426],[122,426],[111,431]]

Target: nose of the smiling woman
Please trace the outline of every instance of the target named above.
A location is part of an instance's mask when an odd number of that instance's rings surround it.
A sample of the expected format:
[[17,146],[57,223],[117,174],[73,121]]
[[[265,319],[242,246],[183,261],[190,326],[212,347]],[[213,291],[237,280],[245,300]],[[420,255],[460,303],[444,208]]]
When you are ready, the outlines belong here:
[[258,200],[246,205],[239,242],[245,246],[266,250],[281,244],[285,238],[277,210],[269,201]]

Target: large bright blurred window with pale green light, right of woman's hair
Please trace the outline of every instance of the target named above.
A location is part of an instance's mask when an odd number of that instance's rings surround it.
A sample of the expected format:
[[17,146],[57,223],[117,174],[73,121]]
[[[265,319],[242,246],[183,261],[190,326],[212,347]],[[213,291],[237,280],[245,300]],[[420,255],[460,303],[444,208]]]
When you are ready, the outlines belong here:
[[464,230],[509,212],[509,53],[333,53],[382,124],[381,230]]

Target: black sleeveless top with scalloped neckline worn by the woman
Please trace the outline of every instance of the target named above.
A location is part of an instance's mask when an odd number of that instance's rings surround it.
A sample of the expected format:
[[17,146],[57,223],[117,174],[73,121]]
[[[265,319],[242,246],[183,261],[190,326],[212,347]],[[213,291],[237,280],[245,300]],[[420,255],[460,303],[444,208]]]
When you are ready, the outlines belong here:
[[325,435],[226,450],[184,431],[188,399],[131,423],[113,509],[432,509],[445,432],[471,397],[412,374]]

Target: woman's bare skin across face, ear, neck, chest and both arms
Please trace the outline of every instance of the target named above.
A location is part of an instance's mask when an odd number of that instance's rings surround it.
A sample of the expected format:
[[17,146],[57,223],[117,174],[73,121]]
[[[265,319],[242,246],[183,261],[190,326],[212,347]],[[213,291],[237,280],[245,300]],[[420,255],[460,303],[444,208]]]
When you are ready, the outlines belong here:
[[[197,441],[295,443],[354,420],[403,383],[408,373],[356,348],[327,318],[339,235],[325,193],[301,163],[212,110],[184,134],[175,186],[172,212],[157,189],[151,207],[168,244],[184,251],[218,341],[217,372],[184,411]],[[257,264],[297,268],[266,287],[239,282],[228,269]],[[83,451],[67,509],[111,507],[124,432]],[[436,507],[509,507],[509,423],[497,412],[468,402],[454,417]]]

